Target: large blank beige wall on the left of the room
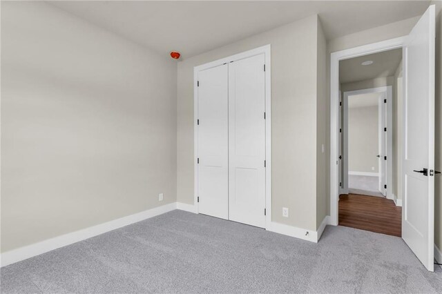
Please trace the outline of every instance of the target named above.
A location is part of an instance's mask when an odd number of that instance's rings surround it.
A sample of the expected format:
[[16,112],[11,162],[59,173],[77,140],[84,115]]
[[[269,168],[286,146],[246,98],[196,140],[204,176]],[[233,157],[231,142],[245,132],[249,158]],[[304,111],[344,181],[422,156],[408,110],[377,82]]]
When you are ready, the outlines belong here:
[[43,2],[1,51],[1,252],[176,201],[176,63]]

